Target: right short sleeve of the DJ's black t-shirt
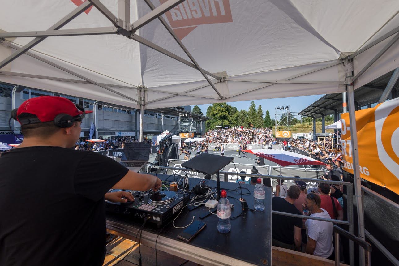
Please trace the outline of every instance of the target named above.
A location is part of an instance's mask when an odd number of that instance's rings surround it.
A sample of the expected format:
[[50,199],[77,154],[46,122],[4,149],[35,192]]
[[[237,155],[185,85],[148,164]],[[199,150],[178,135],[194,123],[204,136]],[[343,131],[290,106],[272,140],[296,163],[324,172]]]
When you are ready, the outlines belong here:
[[129,169],[107,156],[88,152],[76,168],[75,193],[99,201],[128,171]]

